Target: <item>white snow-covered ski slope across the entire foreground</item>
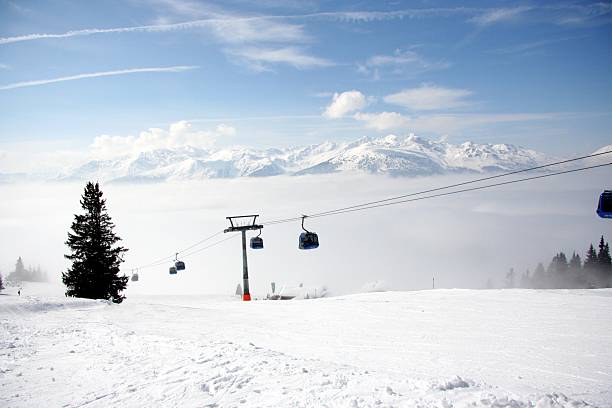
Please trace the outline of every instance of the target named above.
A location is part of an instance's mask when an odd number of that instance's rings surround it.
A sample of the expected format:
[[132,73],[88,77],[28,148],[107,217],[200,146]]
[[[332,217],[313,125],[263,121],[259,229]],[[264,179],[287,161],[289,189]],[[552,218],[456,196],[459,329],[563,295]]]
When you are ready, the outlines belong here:
[[[612,290],[0,294],[0,406],[612,406]],[[61,292],[60,292],[61,293]]]

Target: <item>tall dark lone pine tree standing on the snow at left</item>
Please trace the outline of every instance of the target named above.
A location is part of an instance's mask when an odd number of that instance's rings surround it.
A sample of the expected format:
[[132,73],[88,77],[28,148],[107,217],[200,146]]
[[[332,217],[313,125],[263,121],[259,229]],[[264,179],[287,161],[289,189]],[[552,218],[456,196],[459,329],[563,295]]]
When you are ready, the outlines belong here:
[[127,249],[114,246],[121,238],[113,232],[115,225],[106,211],[106,200],[98,183],[87,183],[80,203],[85,213],[75,214],[66,241],[72,252],[64,255],[72,261],[72,266],[62,273],[68,288],[66,296],[110,298],[120,303],[125,299],[121,292],[128,277],[119,276],[119,265]]

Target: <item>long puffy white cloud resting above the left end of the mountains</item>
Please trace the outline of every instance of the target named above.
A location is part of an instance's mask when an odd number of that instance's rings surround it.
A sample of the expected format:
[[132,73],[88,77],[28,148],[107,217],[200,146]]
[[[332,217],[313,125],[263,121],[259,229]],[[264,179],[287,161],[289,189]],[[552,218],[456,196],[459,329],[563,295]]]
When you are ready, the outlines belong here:
[[198,130],[191,123],[180,121],[171,124],[168,130],[150,128],[137,137],[101,135],[94,139],[90,148],[94,157],[109,159],[164,148],[191,146],[206,149],[212,147],[218,138],[235,134],[236,129],[226,124],[217,125],[212,130]]

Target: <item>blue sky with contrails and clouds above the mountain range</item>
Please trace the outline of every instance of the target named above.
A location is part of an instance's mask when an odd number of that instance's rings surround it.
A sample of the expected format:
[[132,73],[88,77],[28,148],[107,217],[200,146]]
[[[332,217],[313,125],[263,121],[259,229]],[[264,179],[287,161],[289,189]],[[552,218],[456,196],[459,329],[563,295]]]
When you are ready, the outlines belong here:
[[180,121],[217,146],[589,152],[611,72],[611,2],[0,0],[0,170]]

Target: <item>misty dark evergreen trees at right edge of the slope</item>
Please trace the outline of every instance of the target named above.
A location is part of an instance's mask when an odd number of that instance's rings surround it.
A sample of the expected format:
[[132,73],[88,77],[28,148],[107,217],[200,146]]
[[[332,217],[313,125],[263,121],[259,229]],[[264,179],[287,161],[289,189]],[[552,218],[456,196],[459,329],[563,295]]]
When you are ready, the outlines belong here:
[[517,277],[514,269],[506,274],[507,288],[530,289],[595,289],[612,287],[610,245],[602,236],[598,248],[589,246],[584,261],[575,251],[568,257],[557,253],[548,267],[539,263],[533,273],[525,271]]

